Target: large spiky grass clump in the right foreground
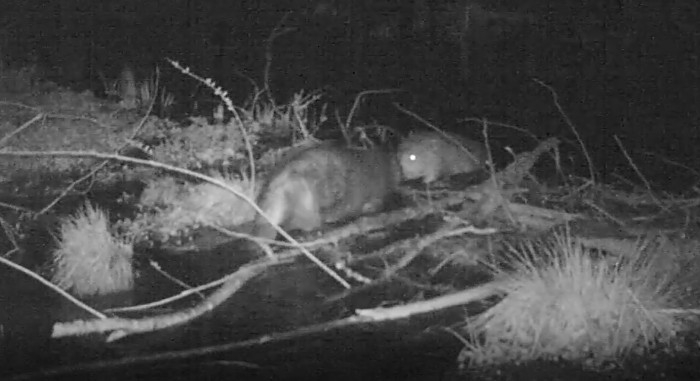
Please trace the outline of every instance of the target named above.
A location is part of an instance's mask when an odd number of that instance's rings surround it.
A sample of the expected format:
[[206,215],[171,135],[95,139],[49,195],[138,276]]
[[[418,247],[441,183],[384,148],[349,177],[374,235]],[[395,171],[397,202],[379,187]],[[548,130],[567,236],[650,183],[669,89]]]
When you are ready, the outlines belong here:
[[472,366],[571,360],[598,367],[670,344],[678,288],[657,253],[606,261],[567,234],[511,247],[496,269],[505,297],[470,318],[460,355]]

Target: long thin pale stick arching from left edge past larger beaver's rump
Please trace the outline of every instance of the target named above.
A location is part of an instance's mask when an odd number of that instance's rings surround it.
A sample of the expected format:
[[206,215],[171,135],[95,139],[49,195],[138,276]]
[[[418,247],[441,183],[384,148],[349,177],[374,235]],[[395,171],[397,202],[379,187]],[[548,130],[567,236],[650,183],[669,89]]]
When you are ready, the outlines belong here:
[[240,191],[232,188],[230,185],[226,184],[226,182],[215,179],[206,175],[203,175],[201,173],[197,173],[194,171],[190,171],[188,169],[184,168],[178,168],[174,167],[172,165],[164,164],[164,163],[159,163],[157,161],[152,161],[152,160],[141,160],[141,159],[136,159],[132,157],[126,157],[126,156],[120,156],[120,155],[114,155],[114,154],[107,154],[107,153],[100,153],[100,152],[74,152],[74,151],[45,151],[45,152],[38,152],[38,151],[13,151],[13,152],[7,152],[7,151],[0,151],[0,156],[19,156],[19,157],[35,157],[35,156],[59,156],[59,157],[75,157],[75,158],[81,158],[81,157],[91,157],[91,158],[98,158],[98,159],[107,159],[107,160],[118,160],[118,161],[124,161],[127,163],[133,163],[133,164],[141,164],[141,165],[146,165],[149,167],[154,167],[154,168],[160,168],[160,169],[165,169],[168,171],[173,171],[177,173],[181,173],[187,176],[191,176],[200,180],[204,180],[207,182],[210,182],[214,185],[218,185],[219,187],[233,193],[234,195],[240,197],[243,201],[247,202],[250,204],[253,209],[257,213],[260,213],[260,215],[263,216],[270,224],[277,230],[284,238],[288,239],[290,242],[292,242],[294,245],[296,245],[303,253],[306,255],[312,262],[314,262],[316,265],[318,265],[320,268],[322,268],[325,272],[327,272],[333,279],[338,281],[343,287],[350,288],[350,284],[346,282],[343,278],[341,278],[338,274],[336,274],[333,270],[331,270],[328,266],[326,266],[323,262],[321,262],[318,258],[316,258],[313,254],[311,254],[306,248],[301,245],[301,243],[297,242],[292,236],[290,236],[284,229],[279,227],[279,225],[273,223],[270,221],[270,218],[265,214],[265,212],[260,209],[260,207],[255,203],[255,201],[251,200],[250,197],[247,195],[241,193]]

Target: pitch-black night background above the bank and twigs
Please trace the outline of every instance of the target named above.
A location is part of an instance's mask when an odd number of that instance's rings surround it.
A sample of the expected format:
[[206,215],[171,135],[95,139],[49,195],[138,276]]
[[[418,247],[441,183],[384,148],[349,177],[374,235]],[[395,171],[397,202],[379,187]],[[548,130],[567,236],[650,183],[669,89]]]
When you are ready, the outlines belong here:
[[[253,88],[237,73],[263,83],[266,40],[287,14],[281,27],[293,30],[274,40],[270,67],[280,102],[323,88],[325,100],[346,115],[359,91],[401,89],[368,98],[357,120],[414,128],[397,102],[468,135],[480,136],[481,127],[461,118],[509,123],[540,138],[568,139],[565,157],[586,175],[574,135],[538,79],[556,91],[604,175],[638,181],[617,136],[655,184],[682,190],[696,179],[659,159],[691,169],[698,160],[700,14],[691,0],[3,3],[5,64],[36,62],[76,90],[99,94],[98,71],[116,78],[129,64],[147,75],[158,65],[178,106],[193,112],[195,100],[211,95],[167,57],[243,102]],[[536,145],[512,129],[489,132],[498,148]]]

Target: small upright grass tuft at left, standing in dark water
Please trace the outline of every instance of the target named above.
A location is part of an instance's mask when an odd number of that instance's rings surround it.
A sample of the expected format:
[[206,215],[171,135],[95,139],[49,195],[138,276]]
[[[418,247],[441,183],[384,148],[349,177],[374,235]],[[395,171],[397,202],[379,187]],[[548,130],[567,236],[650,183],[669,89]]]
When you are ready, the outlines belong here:
[[131,289],[133,248],[110,232],[106,212],[86,203],[61,223],[52,281],[78,296]]

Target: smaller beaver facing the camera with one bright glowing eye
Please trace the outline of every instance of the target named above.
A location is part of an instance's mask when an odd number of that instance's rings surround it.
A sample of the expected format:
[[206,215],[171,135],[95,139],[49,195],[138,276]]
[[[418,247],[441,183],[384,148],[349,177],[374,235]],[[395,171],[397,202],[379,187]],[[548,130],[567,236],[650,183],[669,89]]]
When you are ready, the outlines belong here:
[[422,178],[427,184],[485,168],[488,152],[484,144],[454,134],[447,135],[449,137],[436,131],[423,131],[412,133],[401,141],[398,160],[404,180]]

